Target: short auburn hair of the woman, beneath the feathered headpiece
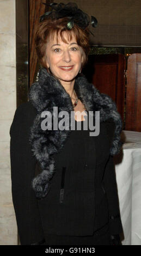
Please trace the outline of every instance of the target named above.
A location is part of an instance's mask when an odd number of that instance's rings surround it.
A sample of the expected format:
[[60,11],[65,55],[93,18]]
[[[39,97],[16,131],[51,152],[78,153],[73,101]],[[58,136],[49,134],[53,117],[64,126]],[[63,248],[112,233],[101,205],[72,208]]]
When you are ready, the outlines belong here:
[[72,39],[72,35],[75,35],[77,44],[81,46],[83,63],[81,68],[87,63],[88,53],[90,50],[89,44],[89,31],[87,29],[82,29],[76,24],[72,27],[71,30],[66,28],[66,24],[69,22],[68,17],[63,17],[60,19],[47,19],[39,23],[36,28],[34,40],[35,40],[35,49],[38,55],[38,59],[43,68],[47,69],[46,65],[46,44],[50,38],[54,38],[54,35],[60,33],[60,37],[63,42],[67,43],[63,37],[63,32],[65,31],[68,35],[68,39]]

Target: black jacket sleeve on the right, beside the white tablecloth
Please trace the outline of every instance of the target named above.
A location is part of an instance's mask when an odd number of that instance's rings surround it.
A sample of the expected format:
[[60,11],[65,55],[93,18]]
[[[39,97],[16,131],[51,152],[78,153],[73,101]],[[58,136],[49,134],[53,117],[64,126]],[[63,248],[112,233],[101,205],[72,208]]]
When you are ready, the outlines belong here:
[[[114,123],[107,123],[107,132],[111,143],[114,136],[114,129]],[[112,155],[109,155],[103,176],[103,182],[108,200],[110,232],[111,235],[117,235],[122,233],[123,229],[120,218],[118,187],[115,174],[114,159]]]

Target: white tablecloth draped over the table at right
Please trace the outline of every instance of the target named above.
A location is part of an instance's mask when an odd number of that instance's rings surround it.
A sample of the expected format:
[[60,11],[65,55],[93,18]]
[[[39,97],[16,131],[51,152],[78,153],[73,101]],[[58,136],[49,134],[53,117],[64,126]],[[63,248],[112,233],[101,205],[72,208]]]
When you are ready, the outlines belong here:
[[141,245],[141,132],[122,131],[122,152],[114,157],[124,240]]

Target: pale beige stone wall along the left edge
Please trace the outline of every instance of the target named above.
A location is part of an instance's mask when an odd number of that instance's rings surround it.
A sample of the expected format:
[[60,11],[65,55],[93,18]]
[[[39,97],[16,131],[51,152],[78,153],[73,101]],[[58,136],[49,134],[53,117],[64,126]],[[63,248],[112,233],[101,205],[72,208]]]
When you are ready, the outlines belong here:
[[15,0],[0,0],[0,245],[17,245],[9,135],[16,109],[15,31]]

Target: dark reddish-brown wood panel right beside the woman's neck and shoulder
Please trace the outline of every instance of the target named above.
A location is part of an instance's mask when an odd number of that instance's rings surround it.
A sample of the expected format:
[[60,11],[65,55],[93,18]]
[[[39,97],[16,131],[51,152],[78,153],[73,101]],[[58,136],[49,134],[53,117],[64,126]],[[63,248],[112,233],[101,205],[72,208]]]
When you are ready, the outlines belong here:
[[108,94],[117,104],[118,111],[124,122],[126,60],[123,54],[90,55],[83,74],[90,83]]

